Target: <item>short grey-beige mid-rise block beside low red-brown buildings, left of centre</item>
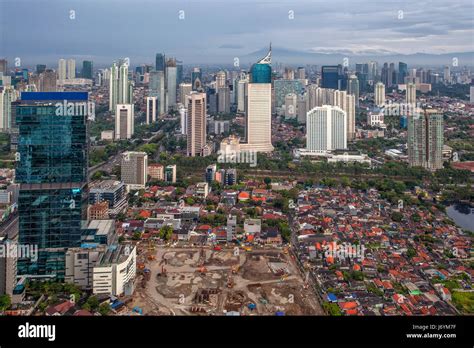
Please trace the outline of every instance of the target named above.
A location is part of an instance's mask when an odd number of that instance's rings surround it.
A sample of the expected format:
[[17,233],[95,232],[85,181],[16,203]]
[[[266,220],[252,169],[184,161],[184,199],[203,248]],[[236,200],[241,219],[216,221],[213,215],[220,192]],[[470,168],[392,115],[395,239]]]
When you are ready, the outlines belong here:
[[148,176],[148,155],[146,152],[124,152],[120,169],[120,178],[130,189],[145,188]]

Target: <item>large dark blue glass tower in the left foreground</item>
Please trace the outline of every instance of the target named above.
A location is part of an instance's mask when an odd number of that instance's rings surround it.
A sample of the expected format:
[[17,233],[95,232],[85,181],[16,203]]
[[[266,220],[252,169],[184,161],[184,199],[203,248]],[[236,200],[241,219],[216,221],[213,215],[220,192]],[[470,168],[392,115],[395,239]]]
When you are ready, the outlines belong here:
[[[64,110],[65,100],[75,107]],[[87,102],[87,92],[23,92],[17,104],[19,243],[39,249],[36,260],[18,260],[19,275],[63,280],[66,249],[81,244],[81,222],[87,218]]]

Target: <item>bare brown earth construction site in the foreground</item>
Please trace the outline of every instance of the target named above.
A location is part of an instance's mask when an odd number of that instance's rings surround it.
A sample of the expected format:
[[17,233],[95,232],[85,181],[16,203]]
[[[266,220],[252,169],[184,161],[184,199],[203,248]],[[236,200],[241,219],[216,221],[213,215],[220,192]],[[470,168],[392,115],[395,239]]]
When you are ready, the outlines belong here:
[[143,315],[323,315],[287,250],[158,246],[141,255]]

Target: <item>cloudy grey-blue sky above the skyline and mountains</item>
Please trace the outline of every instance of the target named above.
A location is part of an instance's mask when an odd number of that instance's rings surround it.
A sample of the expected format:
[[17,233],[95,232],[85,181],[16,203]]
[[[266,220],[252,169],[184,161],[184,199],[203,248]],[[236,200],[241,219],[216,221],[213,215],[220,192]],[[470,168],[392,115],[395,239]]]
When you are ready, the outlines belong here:
[[472,0],[0,0],[0,56],[141,64],[165,52],[232,64],[270,41],[305,52],[466,52],[473,13]]

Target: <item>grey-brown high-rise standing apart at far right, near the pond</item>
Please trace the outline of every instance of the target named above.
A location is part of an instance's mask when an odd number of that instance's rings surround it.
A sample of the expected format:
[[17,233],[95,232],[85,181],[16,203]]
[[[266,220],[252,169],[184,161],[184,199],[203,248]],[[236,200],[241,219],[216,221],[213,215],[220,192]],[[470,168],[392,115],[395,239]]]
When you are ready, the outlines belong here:
[[408,161],[410,166],[428,170],[443,168],[443,115],[426,109],[408,116]]

